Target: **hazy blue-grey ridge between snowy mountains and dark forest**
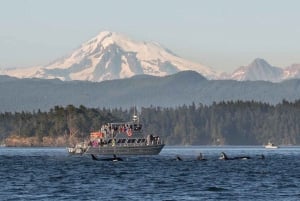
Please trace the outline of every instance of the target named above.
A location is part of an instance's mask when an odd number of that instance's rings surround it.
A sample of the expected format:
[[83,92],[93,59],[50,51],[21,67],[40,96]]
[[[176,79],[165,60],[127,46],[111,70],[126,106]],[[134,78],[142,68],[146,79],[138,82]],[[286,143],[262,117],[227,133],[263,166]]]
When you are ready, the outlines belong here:
[[0,112],[49,110],[60,105],[106,108],[253,100],[277,104],[300,99],[300,79],[265,81],[208,80],[195,71],[163,77],[137,75],[103,82],[58,79],[8,79],[0,76]]

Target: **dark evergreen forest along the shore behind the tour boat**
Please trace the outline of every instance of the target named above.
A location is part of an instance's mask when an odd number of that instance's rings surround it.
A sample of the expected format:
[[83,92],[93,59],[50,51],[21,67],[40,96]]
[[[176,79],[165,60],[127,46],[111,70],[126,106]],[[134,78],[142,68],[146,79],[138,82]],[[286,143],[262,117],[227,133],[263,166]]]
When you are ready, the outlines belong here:
[[[66,146],[104,123],[130,120],[133,110],[69,105],[48,112],[1,113],[0,137],[10,146],[21,146],[20,139],[25,146]],[[269,140],[300,144],[300,100],[275,106],[236,101],[148,107],[139,113],[144,131],[161,136],[168,145],[262,145]]]

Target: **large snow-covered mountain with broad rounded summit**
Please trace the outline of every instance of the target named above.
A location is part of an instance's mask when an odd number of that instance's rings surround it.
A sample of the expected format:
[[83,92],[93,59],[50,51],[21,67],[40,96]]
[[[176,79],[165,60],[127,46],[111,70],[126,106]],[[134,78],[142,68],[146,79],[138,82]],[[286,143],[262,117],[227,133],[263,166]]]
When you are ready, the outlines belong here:
[[204,65],[185,60],[158,43],[134,41],[115,32],[100,32],[69,56],[46,66],[2,70],[19,78],[102,81],[137,74],[164,76],[194,70],[207,78],[217,73]]

